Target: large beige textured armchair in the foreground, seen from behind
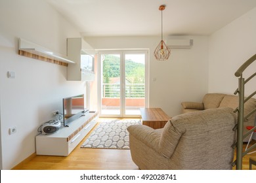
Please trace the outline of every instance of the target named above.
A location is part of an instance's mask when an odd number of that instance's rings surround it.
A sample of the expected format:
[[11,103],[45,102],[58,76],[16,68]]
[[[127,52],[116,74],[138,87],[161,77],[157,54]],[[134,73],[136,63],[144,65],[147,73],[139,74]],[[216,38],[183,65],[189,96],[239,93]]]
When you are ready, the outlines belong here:
[[232,108],[188,112],[162,129],[131,125],[131,157],[139,169],[232,169]]

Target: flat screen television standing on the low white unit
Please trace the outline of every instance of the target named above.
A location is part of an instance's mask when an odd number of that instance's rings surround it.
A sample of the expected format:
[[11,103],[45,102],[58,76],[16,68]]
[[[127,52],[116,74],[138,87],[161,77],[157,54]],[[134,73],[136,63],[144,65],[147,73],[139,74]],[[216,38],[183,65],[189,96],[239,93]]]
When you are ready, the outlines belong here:
[[77,118],[84,116],[85,112],[85,96],[84,94],[66,97],[63,99],[63,122],[64,126]]

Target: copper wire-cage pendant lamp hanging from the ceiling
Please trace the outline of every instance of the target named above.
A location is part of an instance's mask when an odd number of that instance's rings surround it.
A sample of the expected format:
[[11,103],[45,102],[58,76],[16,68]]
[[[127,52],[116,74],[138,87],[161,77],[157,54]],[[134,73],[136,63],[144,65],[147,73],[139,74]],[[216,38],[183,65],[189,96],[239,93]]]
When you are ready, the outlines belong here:
[[159,61],[165,61],[169,58],[171,54],[171,50],[166,46],[165,42],[163,41],[163,10],[165,9],[165,5],[161,5],[159,10],[161,10],[161,41],[156,47],[154,51],[154,56]]

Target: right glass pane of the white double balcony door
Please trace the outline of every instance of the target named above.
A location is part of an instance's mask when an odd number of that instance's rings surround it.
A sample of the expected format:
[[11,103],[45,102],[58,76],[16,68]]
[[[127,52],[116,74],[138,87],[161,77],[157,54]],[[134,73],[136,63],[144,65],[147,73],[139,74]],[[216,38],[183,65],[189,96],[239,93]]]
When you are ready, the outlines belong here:
[[145,54],[125,54],[125,115],[140,115],[145,107]]

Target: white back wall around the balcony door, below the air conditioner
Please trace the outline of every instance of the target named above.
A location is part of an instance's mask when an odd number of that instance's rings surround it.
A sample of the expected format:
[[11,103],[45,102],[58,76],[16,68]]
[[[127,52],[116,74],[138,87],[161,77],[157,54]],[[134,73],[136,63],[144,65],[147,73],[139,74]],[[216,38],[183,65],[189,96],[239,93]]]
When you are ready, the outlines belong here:
[[85,37],[85,40],[95,49],[149,49],[149,105],[176,116],[181,114],[182,101],[202,101],[207,93],[209,42],[204,36],[171,38],[194,39],[194,46],[172,49],[168,61],[156,61],[154,50],[160,37]]

